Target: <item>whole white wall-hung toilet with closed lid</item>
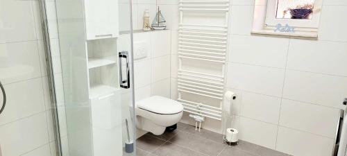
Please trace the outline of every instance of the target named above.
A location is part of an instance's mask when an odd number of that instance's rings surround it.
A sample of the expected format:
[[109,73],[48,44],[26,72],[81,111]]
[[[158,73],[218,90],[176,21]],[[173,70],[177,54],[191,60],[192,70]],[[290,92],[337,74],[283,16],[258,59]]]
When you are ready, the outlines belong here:
[[151,96],[135,103],[136,127],[154,135],[175,125],[183,116],[183,105],[162,96]]

